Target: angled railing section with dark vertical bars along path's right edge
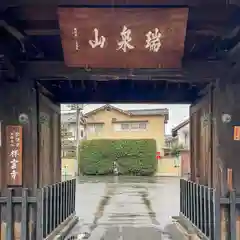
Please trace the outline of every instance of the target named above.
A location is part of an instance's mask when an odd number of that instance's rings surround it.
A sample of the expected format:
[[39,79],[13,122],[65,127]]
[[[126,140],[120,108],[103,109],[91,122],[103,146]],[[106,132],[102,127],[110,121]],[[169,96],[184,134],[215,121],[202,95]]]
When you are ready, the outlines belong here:
[[215,189],[181,179],[180,212],[208,239],[220,239],[220,198]]

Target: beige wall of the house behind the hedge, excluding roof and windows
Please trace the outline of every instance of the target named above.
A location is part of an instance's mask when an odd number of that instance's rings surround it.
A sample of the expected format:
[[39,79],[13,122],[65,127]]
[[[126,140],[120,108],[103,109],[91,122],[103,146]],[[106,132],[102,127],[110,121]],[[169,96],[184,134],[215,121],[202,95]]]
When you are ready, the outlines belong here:
[[[116,123],[113,123],[113,118]],[[114,124],[120,122],[147,121],[147,128],[138,131],[118,131]],[[101,131],[91,133],[87,130],[87,139],[155,139],[157,150],[164,147],[164,116],[129,116],[116,110],[102,110],[87,118],[87,123],[103,123]],[[89,126],[89,124],[88,124]],[[87,127],[88,129],[88,127]]]

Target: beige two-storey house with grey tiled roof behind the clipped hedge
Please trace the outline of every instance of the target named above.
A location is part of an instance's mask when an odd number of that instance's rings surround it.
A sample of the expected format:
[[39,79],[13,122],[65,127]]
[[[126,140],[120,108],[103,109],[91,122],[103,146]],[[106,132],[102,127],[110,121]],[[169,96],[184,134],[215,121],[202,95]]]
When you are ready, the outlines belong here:
[[155,139],[157,151],[164,147],[168,109],[122,110],[104,105],[86,113],[86,138]]

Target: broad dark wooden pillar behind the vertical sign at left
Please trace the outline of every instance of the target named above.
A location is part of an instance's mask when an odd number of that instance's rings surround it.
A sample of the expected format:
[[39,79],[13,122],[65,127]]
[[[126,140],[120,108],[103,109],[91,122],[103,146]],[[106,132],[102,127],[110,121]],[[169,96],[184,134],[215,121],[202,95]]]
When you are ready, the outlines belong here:
[[[13,189],[14,196],[22,193],[22,188],[30,188],[30,194],[35,194],[38,186],[38,133],[37,133],[37,105],[34,81],[21,80],[20,82],[1,81],[0,86],[0,191],[2,196],[7,195],[7,188]],[[18,186],[12,186],[9,181],[9,134],[8,126],[19,126],[22,131],[22,176]],[[8,130],[7,130],[8,129]],[[17,133],[17,131],[14,131]],[[21,172],[18,172],[20,175]],[[6,219],[8,209],[1,206],[1,239],[6,239]],[[14,239],[20,239],[21,206],[13,208]],[[31,221],[31,220],[30,220]]]

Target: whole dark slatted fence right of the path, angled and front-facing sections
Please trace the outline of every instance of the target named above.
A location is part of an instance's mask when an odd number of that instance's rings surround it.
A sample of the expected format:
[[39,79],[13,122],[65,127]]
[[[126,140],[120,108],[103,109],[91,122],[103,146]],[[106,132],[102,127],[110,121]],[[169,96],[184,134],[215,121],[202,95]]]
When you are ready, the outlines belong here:
[[229,191],[227,197],[221,197],[216,189],[184,179],[180,181],[181,214],[210,240],[219,240],[223,234],[221,209],[226,212],[223,221],[227,228],[227,239],[237,239],[239,208],[240,197],[236,196],[235,191]]

